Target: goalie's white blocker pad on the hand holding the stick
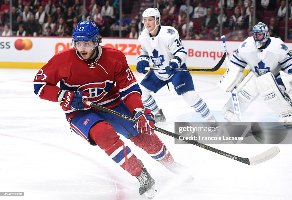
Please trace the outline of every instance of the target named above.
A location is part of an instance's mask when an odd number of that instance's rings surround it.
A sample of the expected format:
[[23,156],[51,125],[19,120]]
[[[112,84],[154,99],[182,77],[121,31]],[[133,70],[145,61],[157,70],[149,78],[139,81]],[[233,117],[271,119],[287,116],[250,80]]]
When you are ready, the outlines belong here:
[[230,67],[218,81],[217,86],[225,92],[232,91],[234,87],[239,85],[243,78],[244,73],[240,72],[239,67],[230,62]]

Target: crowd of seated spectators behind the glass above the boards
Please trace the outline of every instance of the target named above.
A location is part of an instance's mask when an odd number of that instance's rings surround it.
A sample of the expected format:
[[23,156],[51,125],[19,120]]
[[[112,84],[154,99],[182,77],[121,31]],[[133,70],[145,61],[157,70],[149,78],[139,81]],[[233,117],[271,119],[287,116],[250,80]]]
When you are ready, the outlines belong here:
[[[85,7],[81,0],[0,0],[0,33],[2,36],[72,36],[78,22],[85,19],[93,20],[103,37],[119,36],[121,22],[122,37],[138,38],[138,33],[144,28],[140,15],[144,9],[154,6],[150,2],[123,1],[123,13],[119,19],[119,0],[86,0]],[[189,6],[184,0],[156,2],[155,7],[161,13],[161,25],[175,27],[181,38],[220,39],[219,27],[222,23],[227,39],[244,40],[251,36],[252,27],[262,21],[270,27],[272,36],[284,39],[285,0],[256,0],[256,5],[251,0],[190,0]],[[292,36],[291,6],[289,1],[288,29],[291,29]],[[255,21],[253,9],[256,9]]]

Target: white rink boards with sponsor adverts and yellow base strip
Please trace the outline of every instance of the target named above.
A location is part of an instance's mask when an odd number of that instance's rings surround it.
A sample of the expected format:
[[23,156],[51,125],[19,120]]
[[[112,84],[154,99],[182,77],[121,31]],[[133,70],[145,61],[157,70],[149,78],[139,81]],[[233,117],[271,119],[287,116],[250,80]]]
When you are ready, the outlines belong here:
[[[231,55],[240,43],[241,41],[227,41],[228,54]],[[292,48],[292,43],[285,43]],[[131,70],[136,71],[135,67],[141,47],[138,39],[103,38],[101,45],[122,51]],[[183,40],[183,45],[188,55],[186,62],[188,67],[212,68],[224,53],[221,40]],[[0,67],[39,69],[53,55],[68,48],[72,48],[71,37],[0,36]],[[224,63],[218,71],[207,73],[223,74],[226,68]]]

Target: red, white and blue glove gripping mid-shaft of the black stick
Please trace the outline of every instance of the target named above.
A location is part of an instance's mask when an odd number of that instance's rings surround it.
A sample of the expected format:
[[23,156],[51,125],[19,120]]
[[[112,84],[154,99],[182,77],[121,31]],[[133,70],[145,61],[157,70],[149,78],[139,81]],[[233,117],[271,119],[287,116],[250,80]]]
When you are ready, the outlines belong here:
[[149,135],[154,133],[155,119],[150,109],[144,108],[144,110],[136,112],[135,118],[139,120],[137,122],[138,133],[149,134]]

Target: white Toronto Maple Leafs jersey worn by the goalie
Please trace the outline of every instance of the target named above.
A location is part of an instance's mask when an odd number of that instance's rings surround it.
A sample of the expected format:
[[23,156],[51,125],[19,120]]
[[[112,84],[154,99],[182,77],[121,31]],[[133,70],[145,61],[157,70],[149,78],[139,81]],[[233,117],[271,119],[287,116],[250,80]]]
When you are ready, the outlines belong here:
[[275,37],[270,37],[262,50],[256,48],[253,37],[246,38],[233,53],[230,62],[239,66],[241,72],[248,65],[257,76],[272,72],[277,79],[280,78],[280,70],[292,73],[291,49]]

